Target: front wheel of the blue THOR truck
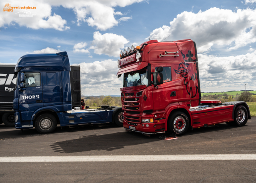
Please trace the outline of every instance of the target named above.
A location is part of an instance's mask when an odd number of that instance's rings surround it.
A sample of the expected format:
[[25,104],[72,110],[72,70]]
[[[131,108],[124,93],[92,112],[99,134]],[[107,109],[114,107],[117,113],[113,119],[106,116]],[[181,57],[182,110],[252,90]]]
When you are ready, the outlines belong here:
[[56,118],[52,114],[41,114],[36,118],[35,127],[41,134],[52,133],[57,126]]

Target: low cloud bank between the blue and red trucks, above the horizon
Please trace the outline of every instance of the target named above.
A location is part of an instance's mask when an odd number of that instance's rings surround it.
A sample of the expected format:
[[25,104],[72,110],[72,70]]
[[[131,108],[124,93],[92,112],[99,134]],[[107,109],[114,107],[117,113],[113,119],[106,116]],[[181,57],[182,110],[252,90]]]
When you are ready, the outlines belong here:
[[80,63],[81,91],[83,95],[120,94],[122,78],[117,78],[117,61],[112,59]]

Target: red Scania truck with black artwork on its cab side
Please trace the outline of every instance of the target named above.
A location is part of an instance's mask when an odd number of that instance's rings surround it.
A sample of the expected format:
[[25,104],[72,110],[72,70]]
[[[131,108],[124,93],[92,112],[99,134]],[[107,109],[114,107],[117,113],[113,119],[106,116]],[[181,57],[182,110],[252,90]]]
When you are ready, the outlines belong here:
[[121,51],[118,67],[126,130],[182,135],[223,122],[244,126],[250,119],[246,102],[201,100],[196,43],[190,39],[132,46]]

